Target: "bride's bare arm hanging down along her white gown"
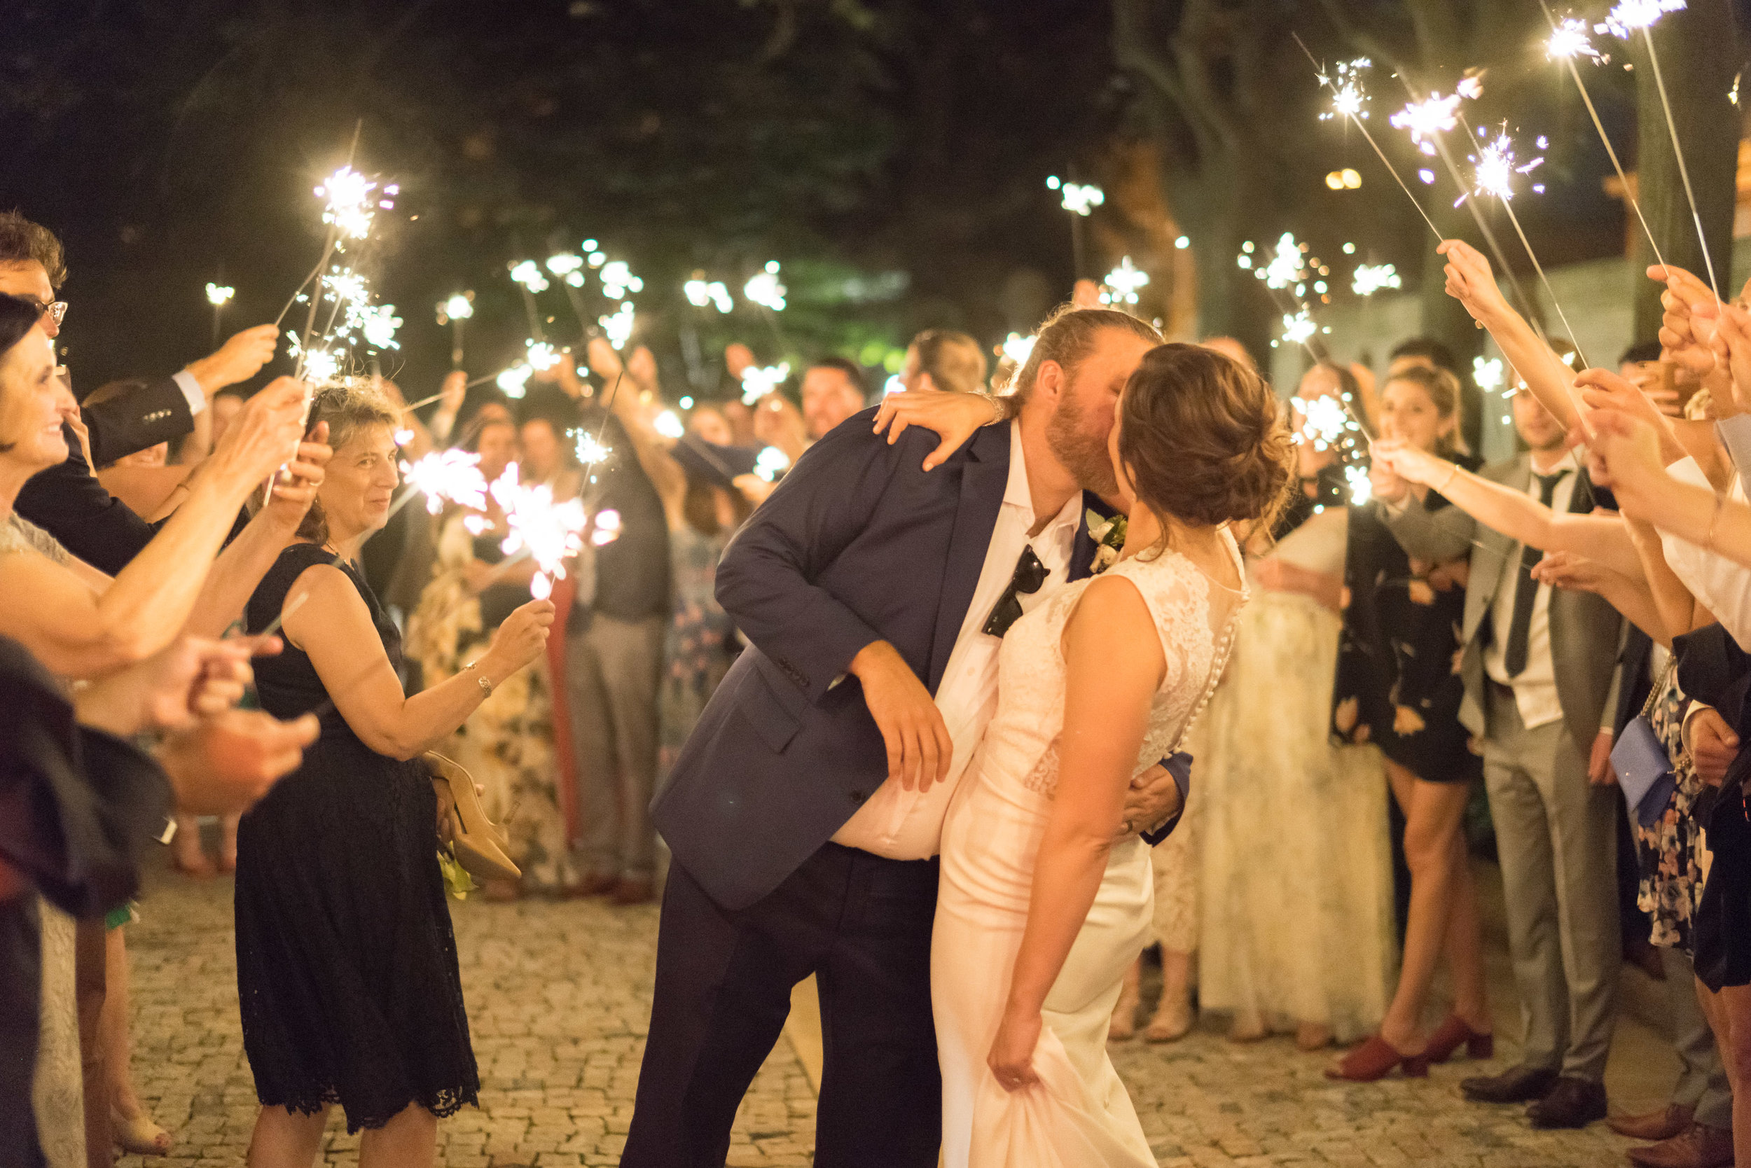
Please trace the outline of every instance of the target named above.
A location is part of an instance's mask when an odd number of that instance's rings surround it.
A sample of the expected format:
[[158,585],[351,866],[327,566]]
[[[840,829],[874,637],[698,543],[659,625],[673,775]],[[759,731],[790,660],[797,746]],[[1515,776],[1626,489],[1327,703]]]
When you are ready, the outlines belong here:
[[1033,865],[1028,926],[1010,975],[991,1070],[1014,1091],[1033,1080],[1040,1010],[1075,944],[1112,851],[1166,658],[1136,587],[1096,580],[1065,627],[1065,730],[1058,793]]

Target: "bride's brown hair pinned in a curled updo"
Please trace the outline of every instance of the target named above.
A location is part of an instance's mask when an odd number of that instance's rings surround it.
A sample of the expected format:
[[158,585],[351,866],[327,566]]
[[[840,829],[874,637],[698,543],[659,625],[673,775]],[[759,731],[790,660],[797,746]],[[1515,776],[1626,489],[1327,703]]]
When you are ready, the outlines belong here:
[[1269,527],[1294,482],[1289,420],[1238,361],[1199,345],[1159,345],[1124,387],[1119,459],[1157,515],[1192,527]]

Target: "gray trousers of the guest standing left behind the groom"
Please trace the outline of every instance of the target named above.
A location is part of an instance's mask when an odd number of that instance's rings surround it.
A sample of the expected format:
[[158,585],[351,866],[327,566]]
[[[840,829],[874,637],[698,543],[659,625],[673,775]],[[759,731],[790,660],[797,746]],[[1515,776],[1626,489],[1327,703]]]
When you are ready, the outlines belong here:
[[592,876],[648,881],[657,870],[650,804],[657,786],[662,616],[592,616],[566,637],[566,690],[578,760],[583,863]]

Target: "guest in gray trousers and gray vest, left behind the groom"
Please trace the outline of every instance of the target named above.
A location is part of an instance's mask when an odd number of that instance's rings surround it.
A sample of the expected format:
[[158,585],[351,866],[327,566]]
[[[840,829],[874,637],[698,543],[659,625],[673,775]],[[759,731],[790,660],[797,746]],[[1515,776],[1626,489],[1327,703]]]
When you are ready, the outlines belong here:
[[[601,424],[599,420],[595,424]],[[632,441],[609,419],[595,515],[620,536],[580,557],[566,627],[566,690],[578,760],[583,895],[644,904],[657,877],[657,686],[669,630],[669,525]]]

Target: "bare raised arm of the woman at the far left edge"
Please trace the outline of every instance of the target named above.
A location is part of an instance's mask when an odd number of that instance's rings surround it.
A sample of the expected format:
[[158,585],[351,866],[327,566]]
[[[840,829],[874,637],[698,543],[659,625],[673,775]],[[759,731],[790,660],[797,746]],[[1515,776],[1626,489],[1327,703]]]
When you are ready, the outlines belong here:
[[296,447],[303,399],[305,387],[291,378],[257,394],[189,499],[102,594],[46,557],[0,557],[0,588],[33,597],[30,606],[0,606],[0,634],[25,643],[63,678],[107,672],[170,644],[243,501]]

